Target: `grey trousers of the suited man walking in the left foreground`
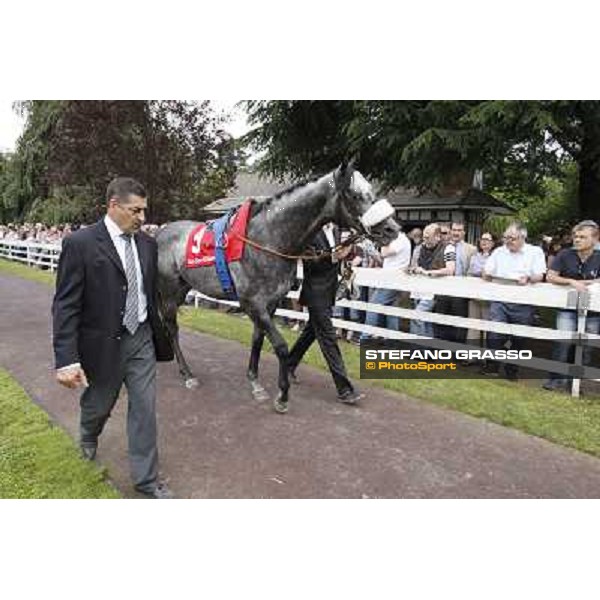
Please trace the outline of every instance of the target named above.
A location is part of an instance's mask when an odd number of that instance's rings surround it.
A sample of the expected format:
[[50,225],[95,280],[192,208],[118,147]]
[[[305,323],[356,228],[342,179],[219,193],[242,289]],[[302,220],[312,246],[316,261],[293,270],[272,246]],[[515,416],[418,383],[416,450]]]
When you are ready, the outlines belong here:
[[127,388],[127,439],[133,484],[150,490],[158,477],[156,443],[156,356],[152,329],[142,323],[134,335],[123,333],[120,367],[112,381],[86,388],[80,399],[82,445],[95,446],[117,401]]

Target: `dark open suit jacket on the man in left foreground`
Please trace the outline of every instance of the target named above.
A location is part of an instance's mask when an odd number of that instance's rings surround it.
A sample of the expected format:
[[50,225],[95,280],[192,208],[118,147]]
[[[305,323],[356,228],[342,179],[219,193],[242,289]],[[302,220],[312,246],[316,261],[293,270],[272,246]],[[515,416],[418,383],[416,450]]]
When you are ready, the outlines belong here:
[[[134,235],[148,300],[156,358],[173,359],[157,309],[158,246],[145,233]],[[104,224],[79,230],[63,241],[52,305],[56,368],[80,362],[95,384],[118,374],[127,278]]]

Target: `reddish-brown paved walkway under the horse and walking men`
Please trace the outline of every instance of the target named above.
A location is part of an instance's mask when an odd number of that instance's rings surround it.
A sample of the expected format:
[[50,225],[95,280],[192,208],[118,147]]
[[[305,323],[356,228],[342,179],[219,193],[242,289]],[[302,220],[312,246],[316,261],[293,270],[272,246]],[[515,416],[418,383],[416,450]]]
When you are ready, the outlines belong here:
[[[52,290],[0,274],[0,365],[35,402],[77,436],[78,394],[54,381]],[[182,498],[583,498],[600,496],[600,460],[425,402],[361,387],[359,408],[341,405],[329,375],[300,367],[290,412],[252,399],[247,350],[183,333],[200,374],[180,383],[159,366],[161,471]],[[263,356],[271,394],[276,361]],[[98,460],[125,496],[126,399],[100,440]]]

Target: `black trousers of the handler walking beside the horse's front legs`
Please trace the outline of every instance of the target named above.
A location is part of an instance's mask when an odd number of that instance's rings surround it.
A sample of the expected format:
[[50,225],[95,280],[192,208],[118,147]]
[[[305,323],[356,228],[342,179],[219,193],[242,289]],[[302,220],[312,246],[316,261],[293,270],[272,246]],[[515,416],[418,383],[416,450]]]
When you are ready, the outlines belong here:
[[316,339],[327,361],[327,366],[333,377],[338,395],[340,395],[348,390],[353,391],[354,388],[346,375],[346,367],[344,366],[342,353],[335,337],[335,329],[331,322],[331,312],[330,307],[308,307],[309,319],[300,337],[296,340],[294,347],[290,350],[288,368],[294,370],[298,366],[306,351]]

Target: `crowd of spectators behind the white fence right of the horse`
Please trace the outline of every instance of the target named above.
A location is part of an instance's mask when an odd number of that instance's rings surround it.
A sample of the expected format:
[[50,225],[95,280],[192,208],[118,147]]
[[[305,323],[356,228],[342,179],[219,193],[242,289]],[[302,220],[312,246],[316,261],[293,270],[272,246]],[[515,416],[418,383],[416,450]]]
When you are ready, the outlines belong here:
[[[526,286],[542,281],[567,285],[583,291],[595,281],[600,281],[600,235],[598,225],[586,220],[556,236],[544,236],[540,244],[527,242],[527,230],[518,223],[510,224],[497,240],[489,231],[483,231],[477,245],[465,241],[465,228],[461,222],[430,223],[423,229],[415,227],[406,235],[400,233],[389,246],[376,249],[370,242],[359,243],[351,255],[353,266],[382,268],[402,274],[425,275],[428,277],[480,277],[486,281],[508,285]],[[368,251],[366,250],[368,249]],[[386,289],[361,288],[354,298],[371,304],[411,307],[417,311],[435,312],[497,323],[534,325],[539,318],[537,308],[511,302],[486,302],[454,296],[432,295]],[[339,314],[339,316],[342,316]],[[406,331],[415,335],[439,338],[449,342],[475,345],[486,344],[499,349],[507,342],[510,347],[520,349],[523,340],[489,332],[486,336],[478,329],[463,329],[429,321],[411,319],[402,323],[396,316],[351,310],[344,315],[351,321],[366,323],[387,329]],[[574,309],[556,311],[556,328],[565,332],[576,330],[577,313]],[[589,313],[587,331],[600,333],[600,315]],[[343,332],[340,332],[343,335]],[[565,335],[568,338],[569,334]],[[360,337],[348,332],[347,339],[359,342],[369,339],[368,334]],[[553,345],[554,360],[571,360],[572,344],[565,340]],[[584,353],[584,363],[590,360],[590,351]],[[500,365],[486,362],[482,372],[500,375]],[[505,364],[503,375],[510,381],[518,378],[514,365]],[[568,390],[571,379],[550,374],[544,383],[549,390]]]

